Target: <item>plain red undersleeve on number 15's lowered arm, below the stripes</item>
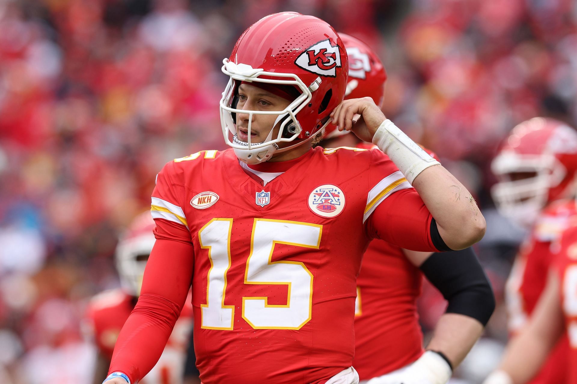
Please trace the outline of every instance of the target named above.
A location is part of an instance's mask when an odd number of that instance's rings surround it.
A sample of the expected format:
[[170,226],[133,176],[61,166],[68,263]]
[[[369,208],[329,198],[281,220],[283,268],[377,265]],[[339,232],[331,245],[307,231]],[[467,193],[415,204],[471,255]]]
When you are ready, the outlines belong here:
[[188,295],[193,254],[192,244],[156,241],[140,298],[118,336],[108,374],[122,372],[136,383],[158,362]]

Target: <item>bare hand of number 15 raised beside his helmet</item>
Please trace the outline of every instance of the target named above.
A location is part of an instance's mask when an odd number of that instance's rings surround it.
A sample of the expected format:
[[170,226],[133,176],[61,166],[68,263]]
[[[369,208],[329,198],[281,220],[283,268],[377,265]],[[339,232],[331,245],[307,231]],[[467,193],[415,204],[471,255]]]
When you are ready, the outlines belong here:
[[[361,115],[354,122],[353,117]],[[343,100],[331,113],[332,124],[339,131],[353,131],[359,139],[372,142],[374,132],[383,123],[385,115],[370,97]]]

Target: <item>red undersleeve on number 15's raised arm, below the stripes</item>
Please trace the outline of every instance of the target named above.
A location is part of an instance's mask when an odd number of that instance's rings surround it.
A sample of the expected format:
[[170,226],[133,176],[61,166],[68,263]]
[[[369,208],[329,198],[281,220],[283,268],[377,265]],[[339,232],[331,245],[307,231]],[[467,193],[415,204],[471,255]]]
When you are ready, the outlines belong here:
[[392,193],[366,221],[369,237],[383,239],[401,248],[439,252],[430,236],[433,216],[414,189]]

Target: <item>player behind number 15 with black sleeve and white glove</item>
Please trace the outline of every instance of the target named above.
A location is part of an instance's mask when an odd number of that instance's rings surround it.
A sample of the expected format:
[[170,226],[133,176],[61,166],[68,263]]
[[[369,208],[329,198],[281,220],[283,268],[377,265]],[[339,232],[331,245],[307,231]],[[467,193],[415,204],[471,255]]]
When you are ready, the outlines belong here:
[[[379,57],[361,40],[341,32],[339,36],[349,55],[345,99],[371,97],[381,105],[387,73]],[[372,146],[355,135],[342,133],[328,127],[325,135],[329,139],[321,145]],[[449,301],[447,314],[439,321],[439,330],[426,352],[416,303],[422,274]],[[357,278],[353,367],[361,381],[377,378],[371,383],[394,383],[395,379],[403,383],[417,379],[419,383],[445,383],[452,368],[480,336],[482,328],[478,324],[484,326],[493,309],[490,283],[470,248],[433,254],[375,239],[363,256]],[[443,329],[447,321],[459,322],[455,327],[459,334],[453,330],[451,340],[446,340],[448,335]]]

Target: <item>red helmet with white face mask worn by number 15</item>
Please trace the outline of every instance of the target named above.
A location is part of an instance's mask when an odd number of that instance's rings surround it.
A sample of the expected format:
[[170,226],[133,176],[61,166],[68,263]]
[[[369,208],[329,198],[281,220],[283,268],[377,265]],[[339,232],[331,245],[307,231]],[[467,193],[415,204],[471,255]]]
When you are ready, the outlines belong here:
[[[295,12],[271,14],[251,25],[223,64],[223,73],[230,76],[220,100],[224,140],[249,164],[267,161],[273,153],[301,145],[322,130],[343,100],[349,70],[343,43],[332,26]],[[243,111],[235,108],[241,82],[294,86],[299,96],[283,111]],[[249,113],[246,143],[237,138],[233,115],[241,112]],[[250,142],[250,122],[257,114],[279,115],[276,138],[271,130],[264,142]],[[278,143],[293,140],[298,142],[279,149]]]

